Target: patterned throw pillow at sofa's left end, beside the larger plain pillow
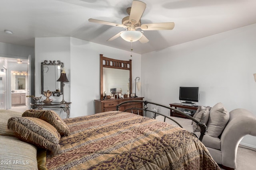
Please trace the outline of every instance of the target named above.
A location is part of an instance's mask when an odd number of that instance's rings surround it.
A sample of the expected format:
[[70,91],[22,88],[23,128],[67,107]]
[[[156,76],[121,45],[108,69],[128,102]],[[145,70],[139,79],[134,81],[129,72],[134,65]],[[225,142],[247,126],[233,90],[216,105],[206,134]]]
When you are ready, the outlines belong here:
[[[197,121],[200,121],[201,123],[207,124],[208,119],[209,119],[209,115],[210,115],[210,111],[209,108],[210,107],[204,107],[204,106],[199,106],[200,108],[198,108],[198,112],[195,113],[195,115],[193,116]],[[200,131],[200,127],[198,125],[196,125],[196,122],[193,121],[193,130],[194,132],[199,132]]]

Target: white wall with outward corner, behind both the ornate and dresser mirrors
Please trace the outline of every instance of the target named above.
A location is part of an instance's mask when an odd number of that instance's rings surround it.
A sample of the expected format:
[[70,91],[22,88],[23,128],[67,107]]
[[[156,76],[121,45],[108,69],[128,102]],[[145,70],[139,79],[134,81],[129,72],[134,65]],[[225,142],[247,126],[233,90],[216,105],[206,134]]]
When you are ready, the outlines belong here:
[[[94,114],[94,100],[100,98],[100,54],[113,59],[132,59],[132,79],[140,76],[139,54],[134,53],[133,57],[130,57],[128,51],[71,37],[36,38],[36,96],[43,96],[40,92],[40,63],[44,60],[60,60],[66,67],[67,78],[70,81],[64,86],[64,99],[72,102],[70,117]],[[43,98],[45,99],[45,96]],[[55,102],[62,100],[62,96],[50,98]],[[65,116],[62,112],[61,117]]]

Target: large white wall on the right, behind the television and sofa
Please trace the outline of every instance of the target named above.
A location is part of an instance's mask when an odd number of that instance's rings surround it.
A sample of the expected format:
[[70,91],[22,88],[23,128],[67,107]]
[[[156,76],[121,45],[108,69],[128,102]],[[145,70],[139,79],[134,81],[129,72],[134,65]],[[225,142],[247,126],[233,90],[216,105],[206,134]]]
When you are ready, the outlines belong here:
[[[142,55],[142,96],[169,105],[180,86],[199,86],[198,105],[222,102],[256,115],[256,24]],[[169,114],[169,111],[166,113]],[[256,137],[243,144],[256,148]]]

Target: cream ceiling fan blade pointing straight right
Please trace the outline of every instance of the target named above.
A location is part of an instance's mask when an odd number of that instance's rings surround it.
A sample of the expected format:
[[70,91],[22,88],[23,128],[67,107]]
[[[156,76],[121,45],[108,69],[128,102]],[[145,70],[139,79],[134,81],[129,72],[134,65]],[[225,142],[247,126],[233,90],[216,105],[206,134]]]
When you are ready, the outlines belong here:
[[170,30],[174,28],[174,22],[145,23],[140,26],[142,30]]

